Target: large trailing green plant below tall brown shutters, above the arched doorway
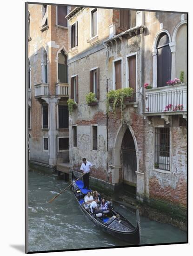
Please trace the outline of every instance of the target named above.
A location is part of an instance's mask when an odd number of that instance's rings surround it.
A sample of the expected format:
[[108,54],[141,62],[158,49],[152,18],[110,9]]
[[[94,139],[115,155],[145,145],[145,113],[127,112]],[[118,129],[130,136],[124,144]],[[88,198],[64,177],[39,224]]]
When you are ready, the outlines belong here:
[[116,109],[120,106],[121,121],[123,122],[123,108],[126,101],[133,100],[133,88],[123,88],[118,90],[111,90],[107,93],[107,104],[106,104],[106,114],[108,115],[109,106],[113,108],[113,113],[116,115]]

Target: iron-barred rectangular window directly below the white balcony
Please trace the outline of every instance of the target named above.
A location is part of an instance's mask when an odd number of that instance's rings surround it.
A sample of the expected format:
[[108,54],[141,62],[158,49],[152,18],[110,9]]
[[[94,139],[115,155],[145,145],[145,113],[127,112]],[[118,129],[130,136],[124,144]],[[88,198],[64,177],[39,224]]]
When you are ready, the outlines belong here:
[[155,163],[154,167],[170,170],[170,130],[155,128]]

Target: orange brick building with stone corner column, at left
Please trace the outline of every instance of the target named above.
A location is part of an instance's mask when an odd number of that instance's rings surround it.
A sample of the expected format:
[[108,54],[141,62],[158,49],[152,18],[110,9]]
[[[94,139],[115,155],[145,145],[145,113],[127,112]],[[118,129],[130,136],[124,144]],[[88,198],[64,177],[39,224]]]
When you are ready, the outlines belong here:
[[30,162],[69,162],[68,24],[71,7],[28,4]]

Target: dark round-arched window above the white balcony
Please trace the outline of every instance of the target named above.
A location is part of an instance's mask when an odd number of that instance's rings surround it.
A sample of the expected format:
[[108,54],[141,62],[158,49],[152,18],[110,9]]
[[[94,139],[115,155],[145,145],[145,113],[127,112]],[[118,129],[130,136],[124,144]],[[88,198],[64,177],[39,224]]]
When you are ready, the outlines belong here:
[[157,41],[157,87],[166,86],[171,79],[172,55],[169,47],[169,37],[161,33]]

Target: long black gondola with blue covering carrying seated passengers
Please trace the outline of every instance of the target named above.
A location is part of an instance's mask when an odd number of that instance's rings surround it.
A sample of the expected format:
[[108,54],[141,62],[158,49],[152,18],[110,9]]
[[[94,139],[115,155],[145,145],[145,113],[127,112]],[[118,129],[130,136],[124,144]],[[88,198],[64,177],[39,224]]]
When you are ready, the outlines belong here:
[[[72,182],[77,178],[72,172]],[[136,211],[137,226],[134,227],[125,217],[110,207],[104,213],[92,214],[84,208],[84,197],[88,189],[83,189],[83,182],[78,180],[73,183],[72,190],[82,212],[91,220],[100,230],[120,239],[129,244],[140,244],[140,216],[139,210]]]

